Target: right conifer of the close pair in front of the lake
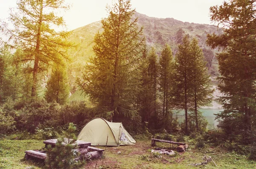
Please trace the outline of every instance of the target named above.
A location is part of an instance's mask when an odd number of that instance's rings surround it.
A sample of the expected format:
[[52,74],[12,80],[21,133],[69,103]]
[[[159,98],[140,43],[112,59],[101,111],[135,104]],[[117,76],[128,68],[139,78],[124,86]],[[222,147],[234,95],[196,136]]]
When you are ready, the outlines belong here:
[[194,60],[192,69],[192,85],[194,89],[193,100],[194,106],[191,107],[191,112],[195,114],[196,130],[199,131],[198,118],[202,118],[201,112],[198,109],[201,106],[206,106],[212,100],[211,93],[212,89],[209,87],[210,79],[208,74],[208,69],[206,67],[206,62],[204,61],[204,56],[202,49],[198,46],[198,41],[194,38],[190,43],[190,54]]

